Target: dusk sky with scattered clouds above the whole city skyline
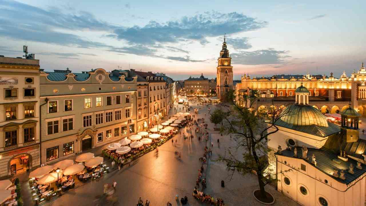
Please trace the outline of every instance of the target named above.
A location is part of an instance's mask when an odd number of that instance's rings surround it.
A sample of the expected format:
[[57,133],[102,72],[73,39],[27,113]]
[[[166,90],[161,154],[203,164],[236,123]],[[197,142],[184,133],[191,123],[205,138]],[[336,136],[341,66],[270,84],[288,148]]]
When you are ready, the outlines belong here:
[[244,73],[350,76],[366,62],[366,1],[0,0],[0,55],[41,69],[216,77],[224,34]]

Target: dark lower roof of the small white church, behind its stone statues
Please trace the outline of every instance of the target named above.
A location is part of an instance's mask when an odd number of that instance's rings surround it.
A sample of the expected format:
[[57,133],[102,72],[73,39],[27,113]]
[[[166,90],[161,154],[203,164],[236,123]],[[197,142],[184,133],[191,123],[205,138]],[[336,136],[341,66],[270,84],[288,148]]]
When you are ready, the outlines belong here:
[[[275,154],[285,157],[303,159],[301,147],[297,147],[297,157],[294,157],[293,148],[282,150],[282,154],[279,154],[278,152]],[[311,163],[311,156],[313,154],[315,155],[315,160],[317,161],[316,166]],[[323,173],[327,174],[329,177],[332,177],[333,179],[343,184],[350,184],[352,181],[356,180],[358,177],[362,176],[366,172],[365,165],[362,165],[362,169],[358,169],[356,168],[357,162],[355,160],[348,158],[348,161],[345,162],[337,158],[337,154],[333,154],[332,152],[329,152],[324,149],[318,150],[313,148],[307,148],[307,158],[308,160],[304,159],[304,161],[312,164],[315,168],[319,169]],[[354,174],[348,173],[349,166],[351,163],[354,166]],[[334,177],[333,170],[335,169],[337,170],[343,169],[345,173],[344,176],[346,177],[346,179],[342,180],[339,177]]]

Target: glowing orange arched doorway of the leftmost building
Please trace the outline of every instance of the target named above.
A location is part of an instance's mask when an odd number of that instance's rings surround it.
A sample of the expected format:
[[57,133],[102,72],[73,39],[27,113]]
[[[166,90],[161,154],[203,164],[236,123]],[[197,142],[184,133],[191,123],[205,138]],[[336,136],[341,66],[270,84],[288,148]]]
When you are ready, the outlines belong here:
[[26,172],[32,162],[32,156],[28,153],[17,154],[8,162],[8,171],[11,175]]

